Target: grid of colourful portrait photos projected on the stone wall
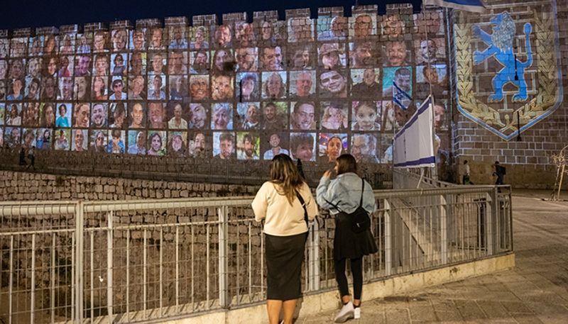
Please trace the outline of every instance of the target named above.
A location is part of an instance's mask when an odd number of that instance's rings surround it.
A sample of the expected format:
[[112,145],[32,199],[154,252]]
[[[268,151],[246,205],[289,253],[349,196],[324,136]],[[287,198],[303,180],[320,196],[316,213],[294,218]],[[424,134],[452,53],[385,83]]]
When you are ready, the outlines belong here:
[[443,29],[415,23],[356,13],[0,39],[1,145],[388,163],[430,93],[448,131]]

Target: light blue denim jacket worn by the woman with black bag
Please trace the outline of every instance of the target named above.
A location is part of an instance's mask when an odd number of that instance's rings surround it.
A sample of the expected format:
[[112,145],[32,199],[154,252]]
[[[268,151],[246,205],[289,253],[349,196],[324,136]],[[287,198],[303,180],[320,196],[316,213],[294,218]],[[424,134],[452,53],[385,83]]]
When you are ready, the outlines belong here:
[[[373,188],[365,181],[363,194],[363,208],[369,213],[376,210]],[[322,177],[316,189],[317,204],[329,209],[332,214],[339,211],[332,205],[334,203],[345,213],[353,213],[361,201],[361,178],[352,172],[339,174],[335,179]]]

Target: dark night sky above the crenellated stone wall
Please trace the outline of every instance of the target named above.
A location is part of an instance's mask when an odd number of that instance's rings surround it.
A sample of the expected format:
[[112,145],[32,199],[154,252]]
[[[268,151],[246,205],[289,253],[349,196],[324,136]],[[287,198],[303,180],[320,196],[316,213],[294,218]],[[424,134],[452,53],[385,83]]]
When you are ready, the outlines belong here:
[[[187,0],[5,0],[0,10],[0,29],[23,27],[62,26],[114,20],[131,20],[142,18],[164,18],[168,16],[195,16],[211,13],[231,13],[247,11],[278,10],[280,18],[284,18],[285,9],[312,9],[312,15],[322,6],[343,6],[349,14],[355,1],[345,0],[219,0],[219,1],[187,1]],[[380,13],[385,11],[386,4],[412,3],[415,12],[419,11],[420,0],[386,0],[365,1],[359,4],[378,4]]]

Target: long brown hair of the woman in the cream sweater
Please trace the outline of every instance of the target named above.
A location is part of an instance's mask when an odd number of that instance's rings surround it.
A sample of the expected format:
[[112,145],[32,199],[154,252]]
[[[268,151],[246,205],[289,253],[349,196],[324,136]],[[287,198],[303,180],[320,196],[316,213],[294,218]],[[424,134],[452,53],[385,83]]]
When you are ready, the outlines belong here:
[[276,191],[286,196],[288,203],[292,205],[296,196],[295,190],[302,185],[303,181],[292,159],[288,155],[279,154],[272,159],[271,182],[278,184],[280,188]]

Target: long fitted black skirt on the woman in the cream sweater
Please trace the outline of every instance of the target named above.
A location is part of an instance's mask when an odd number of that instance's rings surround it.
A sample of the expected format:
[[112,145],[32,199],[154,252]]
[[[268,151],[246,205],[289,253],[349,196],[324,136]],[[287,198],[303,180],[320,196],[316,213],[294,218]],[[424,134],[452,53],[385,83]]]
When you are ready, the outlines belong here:
[[266,298],[289,301],[302,296],[300,276],[307,233],[264,235],[266,239]]

